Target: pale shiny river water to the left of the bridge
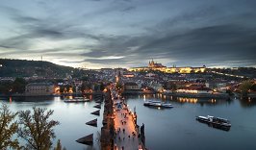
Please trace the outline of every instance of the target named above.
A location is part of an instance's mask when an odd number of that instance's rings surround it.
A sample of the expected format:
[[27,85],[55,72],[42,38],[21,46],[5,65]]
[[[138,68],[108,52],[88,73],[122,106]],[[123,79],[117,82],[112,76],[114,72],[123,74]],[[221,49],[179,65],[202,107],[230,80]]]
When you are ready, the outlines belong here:
[[[33,107],[53,110],[54,113],[51,118],[61,122],[54,130],[66,149],[100,149],[98,139],[102,124],[99,123],[96,128],[85,125],[85,122],[95,118],[98,119],[98,122],[102,122],[103,111],[100,111],[100,116],[90,114],[90,112],[96,110],[93,108],[96,105],[94,101],[71,104],[64,103],[62,100],[64,97],[1,97],[0,99],[9,106],[12,112],[32,110]],[[92,147],[75,141],[79,137],[84,137],[91,133],[93,133],[95,143]],[[56,140],[53,142],[56,143]]]

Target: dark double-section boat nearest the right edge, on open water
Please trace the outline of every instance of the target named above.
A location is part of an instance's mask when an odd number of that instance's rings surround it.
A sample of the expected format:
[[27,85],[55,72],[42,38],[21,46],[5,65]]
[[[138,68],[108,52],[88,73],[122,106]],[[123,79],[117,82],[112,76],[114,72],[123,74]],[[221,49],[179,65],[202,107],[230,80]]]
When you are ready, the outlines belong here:
[[215,117],[211,115],[207,116],[196,116],[196,120],[206,123],[211,123],[213,125],[217,125],[219,127],[231,127],[231,123],[229,120],[225,118]]

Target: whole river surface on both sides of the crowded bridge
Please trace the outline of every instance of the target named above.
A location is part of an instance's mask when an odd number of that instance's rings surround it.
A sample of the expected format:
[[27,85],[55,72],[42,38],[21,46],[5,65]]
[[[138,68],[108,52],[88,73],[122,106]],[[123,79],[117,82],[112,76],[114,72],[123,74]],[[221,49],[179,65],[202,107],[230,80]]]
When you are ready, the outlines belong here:
[[[172,109],[148,108],[145,100],[162,100],[171,103]],[[55,128],[56,139],[70,150],[99,149],[98,138],[102,122],[103,106],[100,116],[90,114],[94,101],[80,104],[64,103],[60,97],[51,99],[12,99],[1,100],[13,112],[32,110],[33,107],[54,110],[53,119],[60,121]],[[163,95],[126,96],[131,110],[138,113],[138,124],[145,125],[145,145],[148,149],[246,149],[256,148],[256,100],[221,100],[203,98],[174,98]],[[209,127],[195,120],[196,115],[214,115],[228,118],[232,127],[223,131]],[[98,127],[86,125],[87,121],[98,119]],[[75,140],[93,133],[94,146],[77,143]],[[56,140],[54,141],[56,143]]]

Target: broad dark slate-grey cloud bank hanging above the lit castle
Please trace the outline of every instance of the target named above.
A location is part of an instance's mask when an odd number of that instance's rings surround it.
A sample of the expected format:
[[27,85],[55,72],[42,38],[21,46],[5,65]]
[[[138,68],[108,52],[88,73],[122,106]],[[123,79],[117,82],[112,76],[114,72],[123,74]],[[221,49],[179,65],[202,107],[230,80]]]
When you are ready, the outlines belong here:
[[[250,31],[250,32],[248,32]],[[163,38],[151,36],[108,38],[106,43],[98,45],[85,56],[96,58],[104,56],[127,56],[133,59],[149,60],[173,59],[176,63],[207,63],[248,60],[256,63],[256,31],[233,25],[203,27],[181,35],[166,34]],[[132,51],[131,46],[138,46]],[[186,60],[186,62],[184,62]],[[98,60],[87,60],[95,63]],[[113,60],[116,61],[116,60]],[[123,60],[125,61],[125,60]],[[101,63],[103,61],[99,61]],[[107,62],[111,62],[108,60]]]

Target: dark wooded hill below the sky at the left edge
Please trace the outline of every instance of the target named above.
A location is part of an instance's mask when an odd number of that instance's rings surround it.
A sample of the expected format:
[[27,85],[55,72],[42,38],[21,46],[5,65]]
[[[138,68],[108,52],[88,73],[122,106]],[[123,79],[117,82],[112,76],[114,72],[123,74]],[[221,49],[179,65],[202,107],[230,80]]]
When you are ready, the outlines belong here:
[[46,77],[64,78],[78,69],[41,61],[0,59],[0,77]]

